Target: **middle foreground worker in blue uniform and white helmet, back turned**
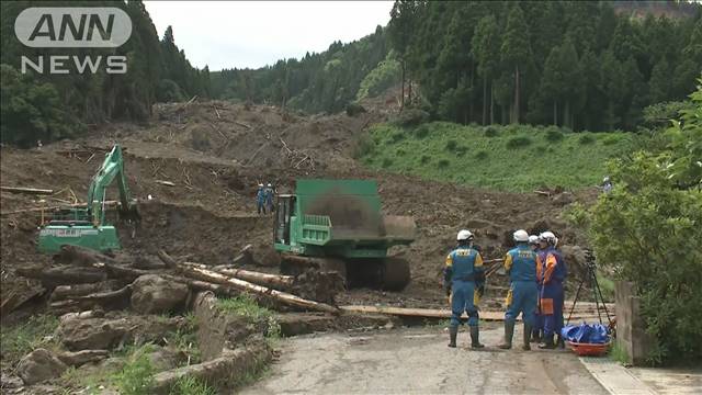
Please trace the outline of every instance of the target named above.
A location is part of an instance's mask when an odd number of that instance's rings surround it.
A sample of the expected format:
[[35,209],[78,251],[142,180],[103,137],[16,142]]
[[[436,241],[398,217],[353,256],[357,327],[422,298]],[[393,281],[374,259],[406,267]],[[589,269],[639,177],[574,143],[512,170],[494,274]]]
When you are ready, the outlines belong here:
[[507,312],[505,313],[505,341],[498,347],[505,350],[512,348],[514,335],[514,320],[521,313],[524,321],[522,349],[531,350],[529,340],[531,328],[534,325],[536,300],[536,260],[539,256],[529,246],[529,234],[520,229],[512,235],[517,247],[507,252],[505,257],[505,271],[509,274],[509,292],[507,294]]

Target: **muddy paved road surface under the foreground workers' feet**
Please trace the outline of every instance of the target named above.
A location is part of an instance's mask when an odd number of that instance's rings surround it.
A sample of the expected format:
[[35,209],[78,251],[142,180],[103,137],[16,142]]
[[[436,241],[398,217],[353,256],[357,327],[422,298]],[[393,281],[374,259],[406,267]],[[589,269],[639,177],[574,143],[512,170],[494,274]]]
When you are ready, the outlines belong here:
[[272,371],[244,393],[607,394],[571,352],[499,350],[501,332],[483,331],[485,351],[467,348],[465,331],[449,349],[438,327],[291,338]]

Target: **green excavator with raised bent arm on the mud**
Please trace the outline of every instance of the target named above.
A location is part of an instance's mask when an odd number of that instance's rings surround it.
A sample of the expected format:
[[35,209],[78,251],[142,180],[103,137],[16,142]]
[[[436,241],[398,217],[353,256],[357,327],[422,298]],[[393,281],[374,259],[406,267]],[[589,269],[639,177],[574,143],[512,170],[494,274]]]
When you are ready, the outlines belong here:
[[115,145],[105,155],[105,160],[92,178],[88,189],[84,208],[61,208],[52,215],[52,219],[39,227],[39,252],[57,253],[61,246],[79,246],[100,252],[109,252],[122,248],[116,228],[105,222],[105,194],[107,187],[117,180],[120,191],[120,219],[136,226],[139,213],[136,201],[129,195],[127,179],[124,174],[122,148]]

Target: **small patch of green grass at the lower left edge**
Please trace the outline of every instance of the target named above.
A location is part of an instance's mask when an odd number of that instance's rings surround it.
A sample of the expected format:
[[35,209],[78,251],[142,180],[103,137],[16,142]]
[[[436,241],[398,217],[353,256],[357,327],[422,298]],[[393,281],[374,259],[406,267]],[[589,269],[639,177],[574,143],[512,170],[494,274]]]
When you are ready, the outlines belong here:
[[58,327],[58,318],[53,315],[36,315],[25,323],[0,330],[0,347],[3,362],[14,364],[37,348],[57,348],[56,339],[52,338]]

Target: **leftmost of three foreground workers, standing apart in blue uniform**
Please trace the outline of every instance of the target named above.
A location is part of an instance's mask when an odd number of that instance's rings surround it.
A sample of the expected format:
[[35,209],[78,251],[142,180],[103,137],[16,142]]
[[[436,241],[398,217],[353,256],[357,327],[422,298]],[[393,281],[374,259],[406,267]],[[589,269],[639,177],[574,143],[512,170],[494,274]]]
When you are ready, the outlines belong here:
[[472,247],[473,234],[469,230],[461,230],[456,236],[458,246],[446,257],[443,272],[443,287],[451,300],[451,325],[449,326],[449,347],[456,347],[456,336],[461,316],[465,312],[468,315],[468,328],[471,330],[471,347],[483,348],[478,335],[478,309],[474,297],[479,284],[485,280],[483,257]]

